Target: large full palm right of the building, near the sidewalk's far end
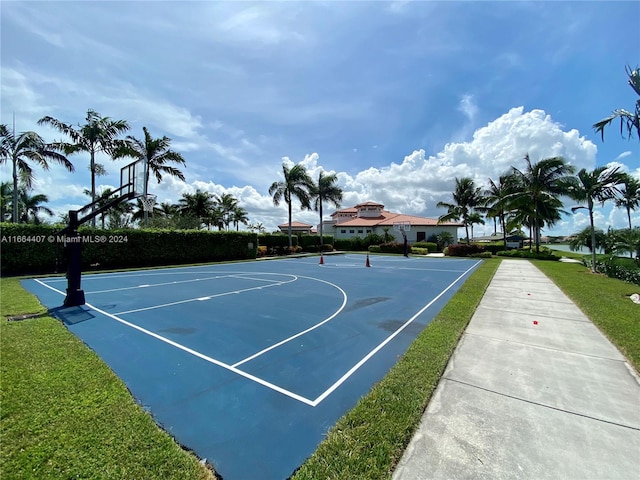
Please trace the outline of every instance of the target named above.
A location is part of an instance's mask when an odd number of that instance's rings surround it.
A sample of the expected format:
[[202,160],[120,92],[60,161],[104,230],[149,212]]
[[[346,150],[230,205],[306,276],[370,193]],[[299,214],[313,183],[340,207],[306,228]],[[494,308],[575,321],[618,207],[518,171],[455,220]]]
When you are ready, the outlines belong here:
[[511,167],[515,189],[507,201],[515,208],[528,213],[531,220],[536,252],[540,251],[540,231],[545,225],[552,226],[565,213],[561,195],[566,194],[570,175],[574,168],[562,157],[545,158],[531,163],[529,154],[524,157],[526,169]]

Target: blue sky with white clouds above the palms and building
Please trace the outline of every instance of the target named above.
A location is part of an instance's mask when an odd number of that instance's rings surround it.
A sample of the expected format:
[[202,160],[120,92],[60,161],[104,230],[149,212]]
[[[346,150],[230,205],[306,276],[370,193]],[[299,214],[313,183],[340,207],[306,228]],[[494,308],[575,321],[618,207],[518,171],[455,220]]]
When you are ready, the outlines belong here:
[[[36,124],[44,115],[78,124],[94,109],[138,138],[146,126],[187,161],[186,182],[151,184],[158,201],[231,193],[269,230],[286,222],[268,195],[283,161],[336,172],[343,206],[427,217],[456,177],[486,184],[526,153],[640,178],[638,139],[592,129],[634,105],[637,1],[2,1],[0,14],[2,123],[15,113],[18,132],[47,140],[60,134]],[[70,160],[74,174],[37,171],[57,213],[88,200],[88,159]],[[101,162],[98,185],[116,186],[126,162]],[[318,215],[294,204],[294,220]],[[596,221],[620,228],[626,214],[605,206]],[[568,215],[543,233],[587,224]]]

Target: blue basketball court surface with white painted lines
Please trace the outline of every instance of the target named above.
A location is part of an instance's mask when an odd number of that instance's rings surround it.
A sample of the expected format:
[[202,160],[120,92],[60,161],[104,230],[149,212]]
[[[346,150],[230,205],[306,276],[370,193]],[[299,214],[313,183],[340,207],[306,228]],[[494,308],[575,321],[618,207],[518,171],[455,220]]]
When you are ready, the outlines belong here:
[[23,281],[223,479],[285,479],[478,261],[364,255]]

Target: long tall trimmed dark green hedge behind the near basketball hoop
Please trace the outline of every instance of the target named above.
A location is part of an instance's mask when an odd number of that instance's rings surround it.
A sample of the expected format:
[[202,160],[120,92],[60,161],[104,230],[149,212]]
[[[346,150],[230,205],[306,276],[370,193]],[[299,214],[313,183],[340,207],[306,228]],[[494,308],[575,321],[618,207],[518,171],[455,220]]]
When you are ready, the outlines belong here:
[[[2,274],[66,270],[64,241],[55,225],[1,223]],[[82,268],[151,267],[256,258],[258,239],[249,232],[203,230],[102,230],[81,227]],[[66,237],[66,238],[65,238]]]

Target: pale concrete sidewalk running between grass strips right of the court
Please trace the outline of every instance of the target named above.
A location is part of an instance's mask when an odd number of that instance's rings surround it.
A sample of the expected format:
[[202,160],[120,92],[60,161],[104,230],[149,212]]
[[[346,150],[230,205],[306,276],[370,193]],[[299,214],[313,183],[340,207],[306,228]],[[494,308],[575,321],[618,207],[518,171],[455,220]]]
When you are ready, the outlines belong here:
[[502,261],[393,475],[430,478],[640,479],[638,376],[526,260]]

